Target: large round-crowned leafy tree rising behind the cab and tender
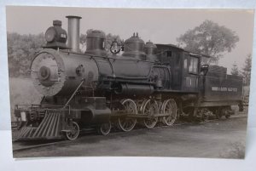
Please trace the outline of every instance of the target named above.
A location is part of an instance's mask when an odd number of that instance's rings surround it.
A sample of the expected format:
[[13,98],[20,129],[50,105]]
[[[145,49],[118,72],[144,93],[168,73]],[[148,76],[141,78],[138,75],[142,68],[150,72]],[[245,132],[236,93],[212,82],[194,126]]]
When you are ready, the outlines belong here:
[[211,20],[205,20],[200,26],[177,37],[178,45],[186,50],[211,56],[210,60],[204,61],[207,64],[218,63],[224,52],[230,52],[238,41],[235,31]]

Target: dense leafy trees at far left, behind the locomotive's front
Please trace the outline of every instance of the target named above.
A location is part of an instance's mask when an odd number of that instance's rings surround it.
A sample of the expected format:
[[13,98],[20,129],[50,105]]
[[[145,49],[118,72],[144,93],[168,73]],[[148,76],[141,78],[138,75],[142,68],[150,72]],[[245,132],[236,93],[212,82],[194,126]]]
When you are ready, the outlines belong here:
[[9,76],[26,76],[34,55],[44,44],[44,33],[38,35],[20,35],[18,33],[8,32]]

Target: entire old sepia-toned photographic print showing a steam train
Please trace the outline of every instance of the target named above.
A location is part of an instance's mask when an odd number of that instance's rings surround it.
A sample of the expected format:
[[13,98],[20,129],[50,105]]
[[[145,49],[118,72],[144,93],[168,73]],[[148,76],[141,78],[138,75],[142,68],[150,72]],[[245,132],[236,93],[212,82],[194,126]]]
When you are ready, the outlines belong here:
[[14,158],[244,159],[253,9],[6,6]]

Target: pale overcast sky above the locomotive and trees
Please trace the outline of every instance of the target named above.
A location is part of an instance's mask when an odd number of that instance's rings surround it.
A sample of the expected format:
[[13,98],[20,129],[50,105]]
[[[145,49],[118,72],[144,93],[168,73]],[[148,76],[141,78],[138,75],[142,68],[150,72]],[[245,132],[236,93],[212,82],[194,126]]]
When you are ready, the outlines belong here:
[[236,65],[241,69],[247,54],[253,50],[253,10],[249,9],[89,9],[64,7],[7,6],[7,31],[20,34],[38,34],[61,20],[67,30],[67,15],[82,17],[80,33],[97,29],[119,35],[122,39],[138,32],[144,42],[177,44],[177,37],[189,29],[212,20],[225,26],[240,38],[230,53],[219,60],[220,66]]

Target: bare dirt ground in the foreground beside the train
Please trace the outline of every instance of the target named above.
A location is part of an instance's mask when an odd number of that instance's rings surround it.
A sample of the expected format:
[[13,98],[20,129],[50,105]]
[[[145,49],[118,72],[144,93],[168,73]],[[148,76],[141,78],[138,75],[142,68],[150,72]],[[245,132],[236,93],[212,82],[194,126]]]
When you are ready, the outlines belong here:
[[58,142],[14,157],[225,157],[243,158],[247,117],[173,127],[137,129],[107,136],[85,134],[78,140]]

